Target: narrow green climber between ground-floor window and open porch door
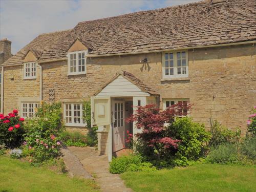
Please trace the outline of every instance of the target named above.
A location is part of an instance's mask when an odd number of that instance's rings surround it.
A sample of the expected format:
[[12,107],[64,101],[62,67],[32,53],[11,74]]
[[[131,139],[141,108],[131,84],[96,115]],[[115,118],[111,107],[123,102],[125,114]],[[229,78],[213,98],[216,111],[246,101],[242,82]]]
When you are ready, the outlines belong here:
[[91,102],[90,101],[84,101],[83,102],[83,119],[86,120],[87,123],[87,144],[90,146],[96,146],[98,143],[97,138],[97,130],[98,127],[92,127],[91,125]]

